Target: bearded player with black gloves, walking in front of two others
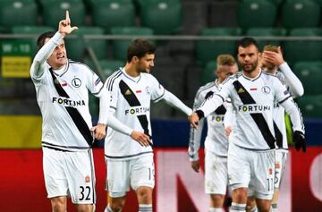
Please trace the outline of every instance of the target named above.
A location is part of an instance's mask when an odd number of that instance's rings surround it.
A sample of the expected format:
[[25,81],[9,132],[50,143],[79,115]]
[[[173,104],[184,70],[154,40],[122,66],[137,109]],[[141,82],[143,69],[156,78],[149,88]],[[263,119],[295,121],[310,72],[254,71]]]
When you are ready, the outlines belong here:
[[245,211],[248,188],[254,191],[259,211],[268,212],[271,208],[275,178],[275,102],[290,114],[293,140],[299,149],[305,149],[299,108],[281,81],[262,72],[259,55],[256,40],[242,38],[238,44],[238,62],[242,72],[228,78],[220,91],[189,116],[190,123],[198,128],[201,118],[214,112],[226,98],[232,99],[236,120],[228,148],[229,185],[233,190],[231,212]]

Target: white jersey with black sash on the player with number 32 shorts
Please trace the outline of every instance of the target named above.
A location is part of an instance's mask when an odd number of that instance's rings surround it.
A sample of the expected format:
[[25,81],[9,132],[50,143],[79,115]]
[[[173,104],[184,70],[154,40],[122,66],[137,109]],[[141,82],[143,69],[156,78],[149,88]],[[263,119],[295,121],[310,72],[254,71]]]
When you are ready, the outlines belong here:
[[[35,70],[36,67],[41,70]],[[88,150],[89,144],[82,132],[89,131],[92,127],[89,91],[98,97],[104,85],[87,65],[68,61],[62,69],[54,71],[55,83],[59,83],[68,95],[61,97],[55,89],[49,69],[47,63],[40,66],[33,64],[30,68],[30,76],[36,87],[38,106],[43,117],[42,146],[64,151]],[[67,111],[71,108],[76,108],[85,121],[83,128],[80,128],[79,117]]]

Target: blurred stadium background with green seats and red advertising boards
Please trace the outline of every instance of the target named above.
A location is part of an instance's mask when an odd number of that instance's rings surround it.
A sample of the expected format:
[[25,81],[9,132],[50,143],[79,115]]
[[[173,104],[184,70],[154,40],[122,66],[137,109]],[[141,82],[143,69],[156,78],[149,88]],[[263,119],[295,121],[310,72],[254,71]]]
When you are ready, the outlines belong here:
[[[188,106],[200,85],[213,81],[216,56],[236,55],[236,41],[258,38],[280,45],[305,94],[297,99],[306,123],[306,154],[291,148],[281,211],[322,207],[322,28],[321,0],[0,0],[0,209],[48,211],[42,175],[41,116],[29,69],[36,39],[56,30],[69,10],[80,30],[66,38],[68,57],[105,81],[123,66],[133,38],[157,45],[152,74]],[[93,122],[98,101],[90,97]],[[151,106],[156,147],[155,208],[207,211],[202,173],[186,154],[189,124],[165,103]],[[106,204],[103,142],[97,142],[97,211]],[[188,173],[188,174],[187,174]],[[131,193],[124,211],[136,211]],[[73,208],[69,208],[71,211]]]

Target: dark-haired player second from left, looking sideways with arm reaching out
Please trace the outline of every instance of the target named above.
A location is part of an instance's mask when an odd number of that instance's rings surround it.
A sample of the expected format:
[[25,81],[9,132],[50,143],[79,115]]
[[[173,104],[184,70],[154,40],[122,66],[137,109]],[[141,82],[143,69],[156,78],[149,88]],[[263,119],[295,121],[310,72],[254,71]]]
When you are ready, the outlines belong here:
[[105,211],[121,211],[130,187],[137,194],[139,211],[152,211],[155,167],[150,101],[164,99],[187,115],[192,112],[149,73],[154,66],[155,50],[156,47],[148,41],[135,39],[128,47],[125,66],[114,72],[105,83],[111,96],[110,112],[131,129],[148,135],[150,143],[142,144],[112,128],[107,129],[105,157],[109,202]]

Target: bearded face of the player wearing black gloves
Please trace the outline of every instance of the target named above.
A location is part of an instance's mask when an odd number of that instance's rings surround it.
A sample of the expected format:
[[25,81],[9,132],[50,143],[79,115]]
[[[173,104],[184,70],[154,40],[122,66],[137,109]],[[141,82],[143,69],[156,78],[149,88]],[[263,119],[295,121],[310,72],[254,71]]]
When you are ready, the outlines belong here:
[[258,67],[258,48],[254,45],[238,47],[238,63],[244,72],[254,72]]

